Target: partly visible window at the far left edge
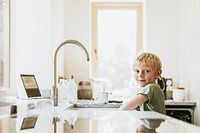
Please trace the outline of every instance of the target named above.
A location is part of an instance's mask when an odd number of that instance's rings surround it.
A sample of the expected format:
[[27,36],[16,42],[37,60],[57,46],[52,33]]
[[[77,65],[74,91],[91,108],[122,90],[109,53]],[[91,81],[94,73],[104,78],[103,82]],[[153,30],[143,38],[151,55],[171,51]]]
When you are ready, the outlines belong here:
[[0,0],[0,87],[9,87],[9,6],[9,0]]

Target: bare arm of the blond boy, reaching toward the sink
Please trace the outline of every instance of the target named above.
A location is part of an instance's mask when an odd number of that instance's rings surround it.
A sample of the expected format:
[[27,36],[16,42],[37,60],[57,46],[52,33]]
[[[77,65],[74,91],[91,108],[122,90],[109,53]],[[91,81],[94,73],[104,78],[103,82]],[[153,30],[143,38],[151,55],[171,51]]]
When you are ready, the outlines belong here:
[[120,110],[133,110],[139,105],[145,103],[148,100],[147,95],[139,94],[136,97],[129,100],[127,103],[123,104],[119,109]]

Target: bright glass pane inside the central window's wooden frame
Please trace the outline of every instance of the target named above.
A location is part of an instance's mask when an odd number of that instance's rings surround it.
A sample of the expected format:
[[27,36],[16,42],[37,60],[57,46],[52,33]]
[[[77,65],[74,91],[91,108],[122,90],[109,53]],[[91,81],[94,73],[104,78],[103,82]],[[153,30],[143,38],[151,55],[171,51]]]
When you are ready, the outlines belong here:
[[108,78],[113,89],[133,80],[136,55],[136,10],[104,9],[98,12],[98,76]]

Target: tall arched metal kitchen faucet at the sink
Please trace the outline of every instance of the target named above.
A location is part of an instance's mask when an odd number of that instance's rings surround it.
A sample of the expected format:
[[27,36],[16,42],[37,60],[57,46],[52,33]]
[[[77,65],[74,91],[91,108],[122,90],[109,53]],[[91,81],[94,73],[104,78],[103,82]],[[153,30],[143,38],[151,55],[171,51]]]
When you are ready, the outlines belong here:
[[53,100],[53,105],[54,106],[58,106],[58,87],[57,87],[57,81],[56,81],[56,67],[57,67],[57,54],[58,54],[58,51],[59,49],[65,45],[65,44],[75,44],[77,46],[79,46],[80,48],[82,48],[84,51],[85,51],[85,54],[87,56],[87,61],[90,61],[90,58],[89,58],[89,54],[88,54],[88,51],[87,49],[83,46],[83,44],[81,44],[80,42],[76,41],[76,40],[66,40],[64,42],[62,42],[57,48],[56,48],[56,51],[55,51],[55,54],[54,54],[54,85],[53,85],[53,94],[52,94],[52,100]]

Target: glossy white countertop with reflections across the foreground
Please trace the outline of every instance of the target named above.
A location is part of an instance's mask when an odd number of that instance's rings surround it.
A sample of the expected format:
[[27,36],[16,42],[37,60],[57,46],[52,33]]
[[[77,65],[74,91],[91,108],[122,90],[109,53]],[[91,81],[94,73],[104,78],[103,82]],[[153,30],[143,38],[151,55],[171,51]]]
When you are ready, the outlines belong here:
[[19,100],[17,113],[0,107],[1,133],[133,133],[142,121],[164,120],[159,133],[199,133],[200,127],[156,112],[119,111],[117,108],[70,108],[72,104],[52,106],[50,100]]

